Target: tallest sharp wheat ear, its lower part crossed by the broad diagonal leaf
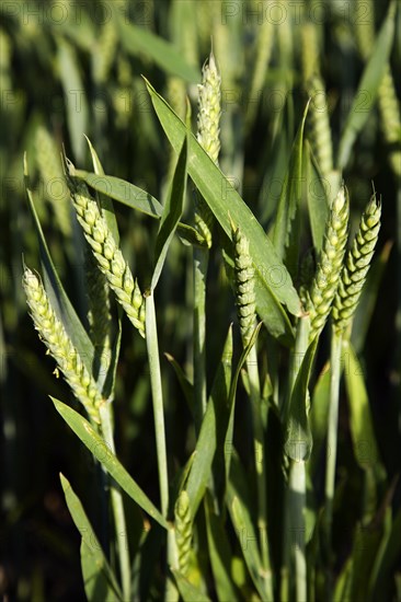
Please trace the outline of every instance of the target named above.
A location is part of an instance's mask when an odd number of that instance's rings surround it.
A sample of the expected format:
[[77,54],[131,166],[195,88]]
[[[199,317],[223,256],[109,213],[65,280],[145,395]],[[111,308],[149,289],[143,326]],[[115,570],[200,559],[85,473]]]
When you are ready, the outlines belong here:
[[[197,141],[217,164],[220,151],[221,78],[213,51],[204,65],[198,89]],[[211,225],[213,213],[205,200],[196,195],[195,227],[208,247],[211,246]]]

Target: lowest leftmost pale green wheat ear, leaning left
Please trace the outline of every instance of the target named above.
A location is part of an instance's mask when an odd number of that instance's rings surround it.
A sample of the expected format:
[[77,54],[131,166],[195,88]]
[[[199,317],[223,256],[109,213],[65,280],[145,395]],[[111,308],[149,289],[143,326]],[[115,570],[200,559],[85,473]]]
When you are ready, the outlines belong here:
[[62,323],[56,316],[39,276],[25,268],[22,283],[35,328],[64,373],[77,400],[89,416],[100,424],[99,408],[103,397],[96,383],[89,374],[81,357],[67,335]]

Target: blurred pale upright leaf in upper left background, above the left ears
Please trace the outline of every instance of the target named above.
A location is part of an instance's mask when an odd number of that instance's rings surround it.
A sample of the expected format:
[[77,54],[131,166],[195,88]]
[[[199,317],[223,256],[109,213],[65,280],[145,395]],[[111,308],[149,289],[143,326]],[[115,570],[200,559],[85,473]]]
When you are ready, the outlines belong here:
[[81,162],[84,158],[83,132],[88,130],[88,104],[83,93],[84,85],[78,68],[79,60],[76,49],[61,37],[57,36],[56,42],[59,77],[67,107],[68,130],[75,159]]

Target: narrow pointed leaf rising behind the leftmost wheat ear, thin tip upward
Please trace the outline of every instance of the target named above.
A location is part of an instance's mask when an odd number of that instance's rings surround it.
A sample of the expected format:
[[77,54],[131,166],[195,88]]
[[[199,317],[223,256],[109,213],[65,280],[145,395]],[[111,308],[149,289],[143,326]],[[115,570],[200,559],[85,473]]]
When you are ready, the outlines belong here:
[[70,300],[67,297],[67,293],[62,287],[61,280],[57,274],[57,270],[54,266],[54,263],[50,257],[49,250],[45,240],[45,235],[42,230],[39,219],[35,209],[35,204],[33,199],[33,194],[28,186],[28,174],[26,162],[24,165],[25,174],[25,184],[27,193],[28,207],[34,220],[38,242],[39,242],[39,253],[43,268],[44,283],[46,287],[46,292],[50,299],[51,306],[55,310],[57,316],[64,324],[68,336],[72,340],[73,346],[76,347],[78,354],[80,355],[88,372],[92,373],[92,366],[94,359],[94,347],[91,339],[88,336],[87,331],[82,326],[81,321],[79,320],[76,310],[73,309]]

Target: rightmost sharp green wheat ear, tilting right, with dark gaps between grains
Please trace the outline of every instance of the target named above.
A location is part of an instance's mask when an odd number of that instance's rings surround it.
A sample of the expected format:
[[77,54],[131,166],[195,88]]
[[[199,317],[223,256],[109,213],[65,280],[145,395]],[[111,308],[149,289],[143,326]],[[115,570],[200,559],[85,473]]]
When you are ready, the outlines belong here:
[[362,216],[335,294],[332,319],[337,333],[345,331],[359,301],[380,230],[381,204],[374,195]]

